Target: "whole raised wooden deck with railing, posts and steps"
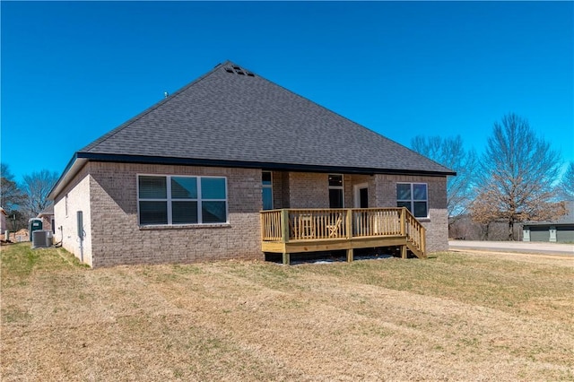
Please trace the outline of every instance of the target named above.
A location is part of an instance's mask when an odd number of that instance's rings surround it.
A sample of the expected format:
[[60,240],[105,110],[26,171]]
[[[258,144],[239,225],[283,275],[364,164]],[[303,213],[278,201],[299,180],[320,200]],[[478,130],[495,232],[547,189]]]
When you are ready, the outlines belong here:
[[406,208],[282,209],[261,212],[263,252],[283,254],[366,247],[400,247],[426,257],[425,230]]

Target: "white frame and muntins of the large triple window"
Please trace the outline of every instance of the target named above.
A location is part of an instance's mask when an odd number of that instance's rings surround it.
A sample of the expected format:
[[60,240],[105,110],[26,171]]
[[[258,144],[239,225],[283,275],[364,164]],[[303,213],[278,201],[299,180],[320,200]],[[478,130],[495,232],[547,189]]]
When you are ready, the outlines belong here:
[[[166,182],[166,197],[163,198],[141,198],[140,197],[140,178],[141,177],[156,177],[156,178],[165,178]],[[196,198],[174,198],[172,195],[171,190],[171,179],[172,178],[196,178],[196,187],[197,187],[197,197]],[[223,179],[224,184],[224,199],[214,199],[214,198],[204,198],[202,195],[202,179],[203,178],[216,178],[216,179]],[[228,183],[227,177],[225,176],[203,176],[203,175],[178,175],[178,174],[148,174],[148,173],[141,173],[136,174],[135,176],[135,188],[136,188],[136,203],[137,203],[137,222],[140,227],[185,227],[185,226],[213,226],[213,225],[226,225],[229,224],[230,221],[230,214],[229,214],[229,194],[228,194]],[[141,221],[142,214],[140,209],[141,202],[165,202],[167,208],[167,223],[143,223]],[[197,222],[182,222],[182,223],[174,223],[173,222],[173,202],[196,202],[196,213],[197,213]],[[204,202],[224,202],[225,203],[225,221],[218,221],[218,222],[204,222],[203,220],[203,203]]]

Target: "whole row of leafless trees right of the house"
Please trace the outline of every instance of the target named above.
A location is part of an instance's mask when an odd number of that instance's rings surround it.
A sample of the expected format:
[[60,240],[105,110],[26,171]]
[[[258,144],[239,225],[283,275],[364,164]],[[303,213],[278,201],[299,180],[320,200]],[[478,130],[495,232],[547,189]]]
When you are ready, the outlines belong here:
[[481,155],[460,136],[418,135],[411,146],[457,171],[447,183],[449,226],[471,217],[488,235],[489,225],[504,223],[513,240],[515,224],[555,220],[566,213],[563,201],[574,200],[574,161],[561,175],[560,153],[514,113],[494,123]]

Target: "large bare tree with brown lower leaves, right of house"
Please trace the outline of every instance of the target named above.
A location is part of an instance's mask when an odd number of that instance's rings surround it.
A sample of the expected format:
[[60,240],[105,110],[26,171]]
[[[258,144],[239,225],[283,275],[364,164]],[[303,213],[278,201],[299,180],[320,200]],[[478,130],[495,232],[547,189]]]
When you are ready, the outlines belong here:
[[483,153],[480,193],[471,207],[474,221],[505,221],[512,240],[516,222],[563,215],[564,204],[552,203],[557,195],[552,184],[560,168],[560,154],[535,135],[526,119],[513,113],[502,117],[494,123]]

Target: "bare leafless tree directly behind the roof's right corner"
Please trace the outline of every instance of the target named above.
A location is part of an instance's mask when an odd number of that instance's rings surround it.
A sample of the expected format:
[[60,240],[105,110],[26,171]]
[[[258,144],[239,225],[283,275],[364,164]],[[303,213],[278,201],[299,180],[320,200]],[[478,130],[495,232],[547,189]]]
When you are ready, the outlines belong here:
[[448,138],[439,135],[430,137],[417,135],[411,141],[411,147],[415,152],[457,171],[457,176],[448,177],[447,181],[448,217],[465,214],[468,204],[473,199],[472,186],[477,168],[474,150],[465,150],[460,135]]

